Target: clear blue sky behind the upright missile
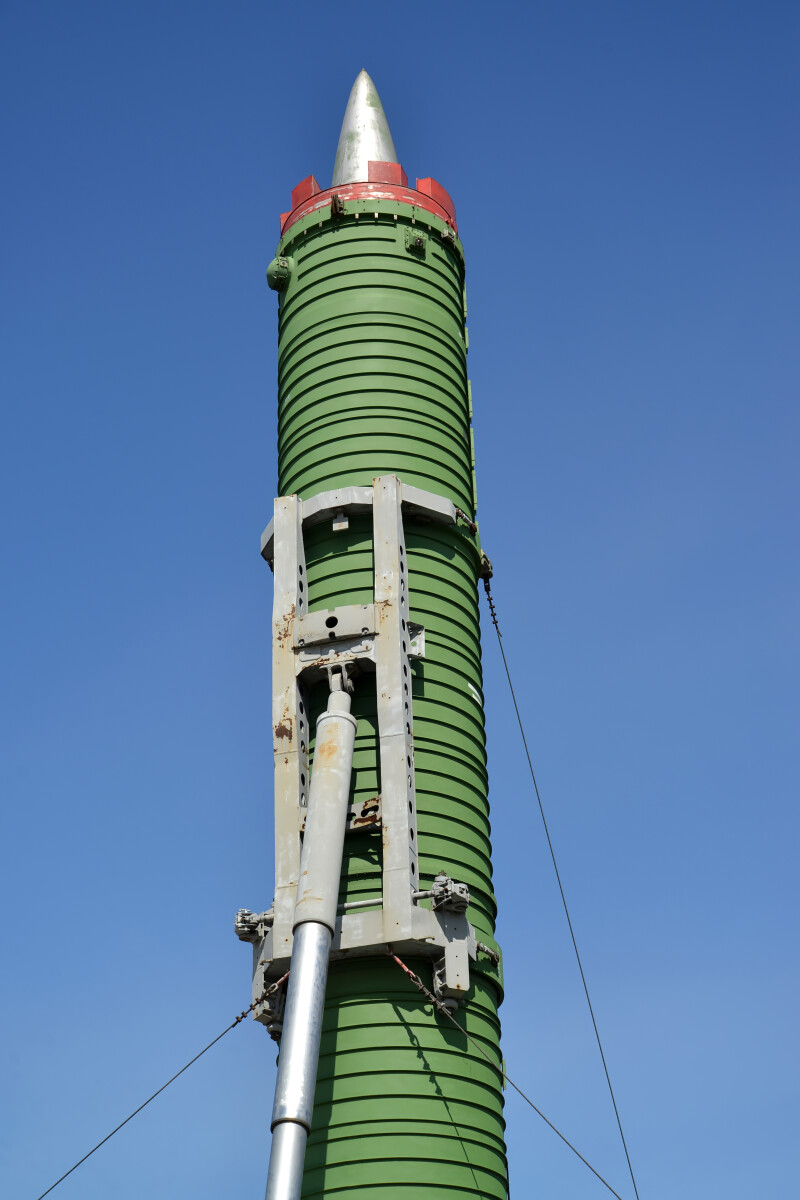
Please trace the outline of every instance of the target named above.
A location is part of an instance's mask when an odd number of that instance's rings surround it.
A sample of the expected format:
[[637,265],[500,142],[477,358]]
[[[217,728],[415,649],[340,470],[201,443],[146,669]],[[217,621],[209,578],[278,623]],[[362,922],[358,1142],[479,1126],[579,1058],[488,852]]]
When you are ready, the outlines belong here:
[[[795,1194],[800,7],[0,23],[4,1195],[249,1000],[264,271],[362,66],[458,208],[481,533],[640,1198]],[[491,626],[485,661],[509,1072],[628,1196]],[[260,1198],[273,1062],[237,1028],[55,1195]],[[506,1111],[515,1200],[608,1194]]]

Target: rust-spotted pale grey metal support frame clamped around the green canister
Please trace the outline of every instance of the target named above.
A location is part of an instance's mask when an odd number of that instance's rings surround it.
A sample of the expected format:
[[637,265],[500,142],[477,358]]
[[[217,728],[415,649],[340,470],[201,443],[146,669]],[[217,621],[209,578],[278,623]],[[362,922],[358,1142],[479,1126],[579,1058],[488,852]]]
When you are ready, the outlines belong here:
[[[374,602],[308,612],[303,529],[332,521],[347,528],[350,516],[372,512]],[[434,960],[440,998],[457,1003],[469,989],[469,961],[476,937],[465,917],[463,884],[443,886],[433,908],[416,902],[416,794],[411,660],[425,656],[425,631],[409,619],[409,576],[404,517],[455,526],[453,504],[441,496],[381,475],[372,487],[345,487],[301,500],[279,497],[261,538],[261,554],[275,572],[272,614],[272,732],[275,751],[275,901],[260,914],[241,910],[236,932],[253,943],[253,998],[289,966],[302,829],[309,786],[306,685],[331,668],[374,672],[380,752],[383,834],[381,895],[371,911],[339,913],[331,960],[374,955],[392,946]],[[313,773],[313,763],[312,763]],[[458,899],[453,899],[458,896]],[[465,898],[465,899],[464,899]],[[255,1009],[270,1032],[281,1028],[283,997]]]

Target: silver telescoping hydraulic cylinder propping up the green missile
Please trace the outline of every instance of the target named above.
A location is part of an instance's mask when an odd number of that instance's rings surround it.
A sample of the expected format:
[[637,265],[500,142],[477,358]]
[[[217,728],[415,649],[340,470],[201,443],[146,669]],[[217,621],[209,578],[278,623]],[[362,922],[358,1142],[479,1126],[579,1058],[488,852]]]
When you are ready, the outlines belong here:
[[266,1200],[300,1200],[317,1085],[327,960],[336,924],[347,826],[355,718],[342,676],[331,678],[327,712],[317,721],[308,815],[300,857],[291,968],[272,1108]]

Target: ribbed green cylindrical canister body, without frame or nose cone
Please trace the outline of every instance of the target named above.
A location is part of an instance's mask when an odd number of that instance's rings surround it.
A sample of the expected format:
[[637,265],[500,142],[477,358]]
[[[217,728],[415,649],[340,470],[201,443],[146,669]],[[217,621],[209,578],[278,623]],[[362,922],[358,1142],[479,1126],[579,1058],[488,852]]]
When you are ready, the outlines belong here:
[[[413,218],[415,218],[413,221]],[[420,240],[421,239],[421,240]],[[308,498],[375,475],[475,509],[461,244],[431,214],[348,202],[290,228],[281,293],[278,488]],[[477,610],[477,540],[407,518],[420,886],[469,886],[494,946]],[[372,521],[306,530],[312,611],[373,600]],[[312,701],[312,728],[325,706]],[[374,679],[357,680],[354,796],[380,791]],[[312,766],[313,769],[313,766]],[[341,900],[380,894],[380,829],[347,838]],[[429,961],[409,964],[431,985]],[[387,959],[332,964],[303,1200],[507,1195],[497,968],[479,955],[457,1020],[487,1062]]]

